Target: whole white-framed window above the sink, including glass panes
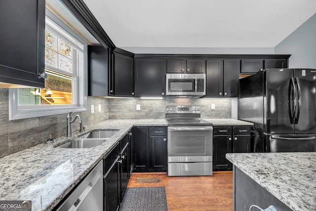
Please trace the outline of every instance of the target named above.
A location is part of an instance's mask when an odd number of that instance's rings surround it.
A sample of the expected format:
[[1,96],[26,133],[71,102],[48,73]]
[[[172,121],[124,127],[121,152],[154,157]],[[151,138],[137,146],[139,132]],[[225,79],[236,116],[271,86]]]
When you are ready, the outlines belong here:
[[46,10],[45,87],[9,88],[9,119],[86,111],[86,49],[86,42]]

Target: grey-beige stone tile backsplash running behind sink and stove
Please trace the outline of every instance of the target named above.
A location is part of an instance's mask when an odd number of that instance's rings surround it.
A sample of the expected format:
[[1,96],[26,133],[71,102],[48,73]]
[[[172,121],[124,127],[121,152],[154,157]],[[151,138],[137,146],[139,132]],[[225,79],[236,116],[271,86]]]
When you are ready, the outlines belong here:
[[[102,98],[88,96],[88,108],[80,114],[87,129],[108,119],[164,119],[166,105],[200,105],[204,119],[231,118],[231,99],[216,98]],[[216,105],[211,110],[211,104]],[[101,105],[101,112],[98,105]],[[136,111],[140,104],[141,110]],[[94,105],[91,114],[90,106]],[[44,142],[49,135],[57,138],[66,135],[67,114],[9,121],[8,88],[0,88],[0,157],[21,151]],[[79,125],[74,125],[74,131]]]

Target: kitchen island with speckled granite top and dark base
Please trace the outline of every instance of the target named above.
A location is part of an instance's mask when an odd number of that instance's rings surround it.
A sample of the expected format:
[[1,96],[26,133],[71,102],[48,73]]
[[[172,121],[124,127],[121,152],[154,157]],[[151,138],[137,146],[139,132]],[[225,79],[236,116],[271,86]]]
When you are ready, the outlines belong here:
[[234,165],[236,211],[248,211],[250,205],[264,209],[274,205],[278,211],[316,210],[316,152],[227,154],[226,158]]

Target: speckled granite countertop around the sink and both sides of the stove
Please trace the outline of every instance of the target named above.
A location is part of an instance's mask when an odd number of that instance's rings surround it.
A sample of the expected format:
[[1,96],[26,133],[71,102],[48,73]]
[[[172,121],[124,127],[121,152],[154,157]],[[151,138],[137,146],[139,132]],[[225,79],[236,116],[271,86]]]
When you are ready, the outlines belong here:
[[[208,121],[214,126],[248,124],[233,119]],[[167,126],[167,123],[164,119],[107,120],[84,132],[119,129],[100,146],[84,149],[54,147],[84,134],[77,132],[72,137],[57,138],[56,143],[39,144],[0,158],[0,200],[31,200],[32,211],[52,210],[134,126]]]

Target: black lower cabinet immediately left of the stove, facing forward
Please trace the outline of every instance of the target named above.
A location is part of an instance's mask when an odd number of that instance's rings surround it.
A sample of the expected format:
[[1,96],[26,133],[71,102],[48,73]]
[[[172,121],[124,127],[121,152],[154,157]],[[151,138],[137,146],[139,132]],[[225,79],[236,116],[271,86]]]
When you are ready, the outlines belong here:
[[167,170],[167,127],[133,127],[134,172]]

